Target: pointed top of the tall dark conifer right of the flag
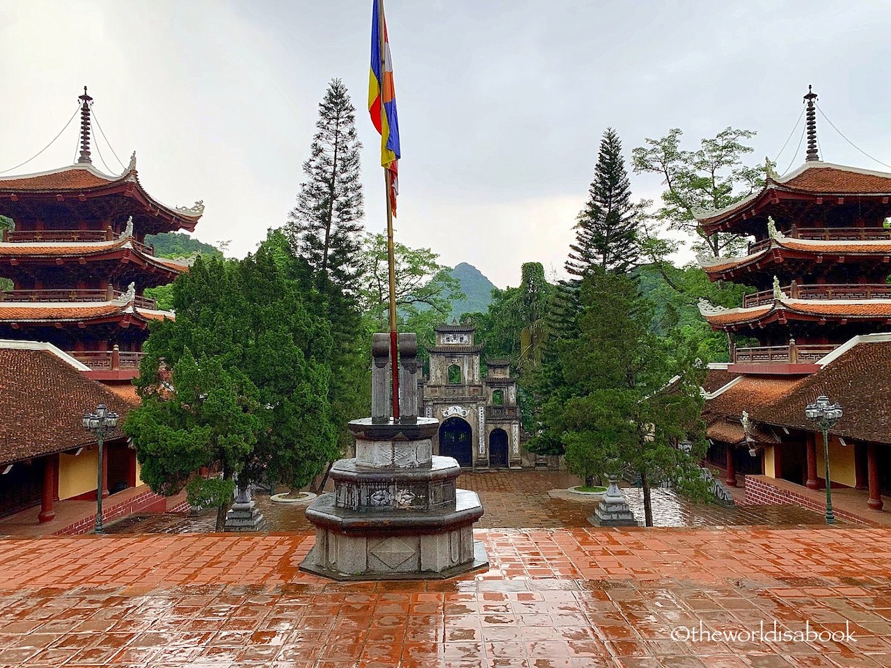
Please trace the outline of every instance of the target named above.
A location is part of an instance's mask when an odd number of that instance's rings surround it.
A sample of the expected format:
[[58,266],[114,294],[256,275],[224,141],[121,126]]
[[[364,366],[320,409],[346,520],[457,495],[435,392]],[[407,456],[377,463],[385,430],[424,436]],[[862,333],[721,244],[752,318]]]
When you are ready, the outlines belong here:
[[566,271],[578,281],[592,265],[628,273],[640,259],[637,227],[639,207],[631,202],[631,186],[622,158],[622,143],[611,127],[603,133],[588,201],[576,223]]

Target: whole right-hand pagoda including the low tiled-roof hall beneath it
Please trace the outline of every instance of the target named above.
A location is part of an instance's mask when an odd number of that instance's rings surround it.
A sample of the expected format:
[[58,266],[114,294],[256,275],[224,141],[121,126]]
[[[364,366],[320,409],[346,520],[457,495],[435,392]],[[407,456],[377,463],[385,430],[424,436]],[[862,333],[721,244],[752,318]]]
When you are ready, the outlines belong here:
[[[822,433],[804,416],[831,391],[846,413],[830,437],[830,484],[868,490],[869,507],[881,509],[881,493],[891,493],[891,424],[880,399],[891,372],[882,334],[891,331],[891,174],[823,162],[815,99],[805,95],[804,165],[780,176],[768,162],[763,188],[698,216],[708,234],[752,239],[742,257],[699,257],[708,277],[756,289],[736,308],[699,304],[730,340],[730,362],[710,365],[703,388],[709,458],[729,485],[747,474],[747,495],[750,483],[771,480],[826,485]],[[737,346],[738,338],[758,345]]]

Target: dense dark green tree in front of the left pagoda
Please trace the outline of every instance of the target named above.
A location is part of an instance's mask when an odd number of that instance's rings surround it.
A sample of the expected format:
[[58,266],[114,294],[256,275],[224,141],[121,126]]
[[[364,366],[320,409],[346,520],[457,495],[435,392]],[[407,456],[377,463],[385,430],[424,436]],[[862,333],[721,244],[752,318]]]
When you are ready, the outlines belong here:
[[[173,287],[176,321],[156,322],[125,424],[158,493],[185,486],[217,507],[266,475],[299,488],[337,452],[331,331],[298,281],[260,248],[245,260],[198,258]],[[202,477],[209,469],[220,477]]]

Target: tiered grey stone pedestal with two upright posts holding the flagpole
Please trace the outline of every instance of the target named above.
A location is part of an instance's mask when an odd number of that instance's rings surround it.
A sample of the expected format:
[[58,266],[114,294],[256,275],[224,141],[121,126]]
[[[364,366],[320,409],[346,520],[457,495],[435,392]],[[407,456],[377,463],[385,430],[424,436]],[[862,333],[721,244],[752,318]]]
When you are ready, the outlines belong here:
[[439,423],[418,417],[417,338],[399,336],[399,414],[391,417],[389,335],[372,345],[372,417],[353,420],[356,457],[331,467],[335,491],[307,519],[315,545],[300,570],[336,580],[445,578],[488,565],[473,540],[477,493],[458,489],[461,467],[433,456]]

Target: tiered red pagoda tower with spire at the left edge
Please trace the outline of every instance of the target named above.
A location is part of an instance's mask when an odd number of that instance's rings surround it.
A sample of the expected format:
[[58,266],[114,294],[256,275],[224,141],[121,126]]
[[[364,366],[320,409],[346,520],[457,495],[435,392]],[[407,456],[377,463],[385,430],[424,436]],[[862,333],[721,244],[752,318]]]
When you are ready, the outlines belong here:
[[135,152],[120,175],[90,158],[91,98],[81,101],[77,163],[0,177],[0,215],[14,229],[0,240],[0,338],[52,343],[85,363],[96,379],[133,378],[147,326],[173,318],[144,296],[188,265],[156,257],[147,234],[192,232],[203,213],[171,208],[139,181]]

